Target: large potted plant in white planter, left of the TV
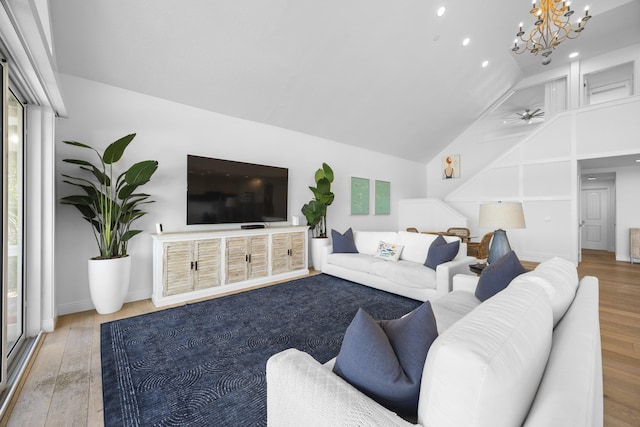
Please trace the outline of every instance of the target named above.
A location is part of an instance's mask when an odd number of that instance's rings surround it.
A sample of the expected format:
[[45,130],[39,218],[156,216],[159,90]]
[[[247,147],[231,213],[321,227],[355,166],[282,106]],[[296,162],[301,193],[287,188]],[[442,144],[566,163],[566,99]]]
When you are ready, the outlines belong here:
[[142,230],[131,224],[146,214],[141,205],[152,203],[149,195],[136,190],[151,179],[158,162],[135,163],[114,177],[113,166],[124,154],[135,133],[111,143],[104,153],[76,141],[63,141],[79,148],[93,150],[99,162],[64,159],[78,165],[81,176],[62,174],[65,183],[82,190],[80,195],[63,197],[60,202],[75,206],[91,225],[99,255],[89,260],[89,290],[91,300],[100,314],[114,313],[122,307],[129,289],[131,258],[127,253],[129,240]]

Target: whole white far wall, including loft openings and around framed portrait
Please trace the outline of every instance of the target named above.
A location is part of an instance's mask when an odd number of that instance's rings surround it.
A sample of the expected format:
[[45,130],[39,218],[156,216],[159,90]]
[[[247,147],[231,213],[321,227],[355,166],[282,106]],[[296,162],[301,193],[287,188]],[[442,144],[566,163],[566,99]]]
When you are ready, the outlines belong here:
[[[486,138],[482,120],[478,120],[428,163],[427,197],[441,198],[469,218],[472,235],[477,236],[490,231],[477,226],[480,203],[523,201],[527,228],[508,230],[518,256],[531,261],[561,256],[577,262],[577,161],[640,152],[636,138],[640,134],[640,97],[579,109],[583,75],[628,62],[635,63],[638,94],[637,44],[519,82],[514,89],[566,78],[570,111],[540,125],[532,134],[510,138]],[[441,177],[441,158],[450,154],[460,154],[460,179]],[[618,215],[624,215],[621,208],[626,206],[618,206]],[[618,248],[621,232],[618,224]]]

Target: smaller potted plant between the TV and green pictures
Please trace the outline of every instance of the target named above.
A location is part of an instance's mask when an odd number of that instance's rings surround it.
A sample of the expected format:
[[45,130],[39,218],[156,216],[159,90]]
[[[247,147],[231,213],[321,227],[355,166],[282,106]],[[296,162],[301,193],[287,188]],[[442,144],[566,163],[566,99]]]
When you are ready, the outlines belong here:
[[315,187],[309,187],[314,198],[302,207],[302,213],[307,219],[307,225],[311,230],[311,262],[316,269],[320,268],[322,246],[328,244],[327,239],[327,206],[333,203],[334,194],[331,192],[333,182],[333,170],[328,164],[323,163],[316,171]]

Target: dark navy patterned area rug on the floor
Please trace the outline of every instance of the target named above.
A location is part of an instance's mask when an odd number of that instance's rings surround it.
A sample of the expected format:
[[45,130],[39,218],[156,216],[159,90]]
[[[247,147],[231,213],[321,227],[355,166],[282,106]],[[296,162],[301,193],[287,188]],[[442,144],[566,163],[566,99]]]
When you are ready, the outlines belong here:
[[324,363],[359,307],[394,319],[419,305],[321,274],[105,323],[105,426],[266,426],[271,355]]

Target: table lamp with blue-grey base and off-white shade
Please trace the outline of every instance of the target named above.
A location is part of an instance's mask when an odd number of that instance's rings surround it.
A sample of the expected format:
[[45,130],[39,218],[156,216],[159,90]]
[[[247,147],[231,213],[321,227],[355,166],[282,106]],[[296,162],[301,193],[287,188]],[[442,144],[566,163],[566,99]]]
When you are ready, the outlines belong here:
[[489,247],[487,264],[491,264],[511,251],[505,228],[525,228],[524,212],[520,202],[497,202],[480,205],[478,225],[483,228],[495,228]]

